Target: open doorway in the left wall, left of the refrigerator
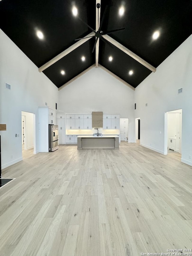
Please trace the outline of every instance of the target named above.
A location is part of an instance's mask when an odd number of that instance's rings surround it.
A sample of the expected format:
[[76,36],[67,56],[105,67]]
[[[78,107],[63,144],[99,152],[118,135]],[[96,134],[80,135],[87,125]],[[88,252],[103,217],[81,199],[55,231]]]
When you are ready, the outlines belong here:
[[35,153],[35,114],[21,111],[22,152],[33,149]]

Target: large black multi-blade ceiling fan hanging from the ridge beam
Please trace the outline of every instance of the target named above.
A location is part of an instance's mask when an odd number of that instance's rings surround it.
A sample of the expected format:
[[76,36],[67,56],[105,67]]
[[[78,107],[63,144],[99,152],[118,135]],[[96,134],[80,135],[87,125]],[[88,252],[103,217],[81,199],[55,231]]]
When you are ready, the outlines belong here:
[[[97,6],[98,9],[101,7],[101,5],[100,5],[99,3],[98,3],[96,6]],[[98,39],[101,39],[101,40],[103,40],[104,42],[109,43],[107,40],[105,40],[105,39],[102,37],[103,35],[108,35],[108,34],[111,34],[111,33],[113,33],[113,32],[118,32],[118,31],[121,31],[121,30],[124,30],[124,29],[125,29],[125,28],[120,28],[120,29],[108,30],[108,31],[106,31],[106,32],[101,31],[101,27],[102,27],[102,24],[103,24],[103,22],[104,22],[104,17],[105,17],[105,15],[106,15],[107,8],[108,8],[108,6],[106,6],[106,8],[105,8],[105,11],[104,11],[104,14],[103,14],[103,17],[102,17],[102,20],[101,20],[101,23],[100,23],[100,26],[99,26],[98,31],[95,31],[94,29],[92,29],[85,21],[83,21],[81,18],[78,17],[79,20],[81,20],[89,29],[91,29],[91,30],[95,33],[95,35],[89,36],[90,38],[91,38],[91,37],[94,37],[94,36],[96,37],[96,40],[95,40],[95,44],[94,44],[92,53],[93,53],[94,50],[95,50],[95,46],[96,46],[96,44],[97,44]],[[98,13],[98,15],[99,15],[99,13]],[[99,20],[99,17],[98,17],[98,20]],[[86,38],[89,38],[89,37],[86,37]],[[81,39],[85,39],[85,38],[78,38],[78,39],[75,39],[75,41],[79,41],[79,40],[81,40]],[[109,44],[110,44],[110,43],[109,43]],[[111,45],[111,44],[110,44],[110,45]]]

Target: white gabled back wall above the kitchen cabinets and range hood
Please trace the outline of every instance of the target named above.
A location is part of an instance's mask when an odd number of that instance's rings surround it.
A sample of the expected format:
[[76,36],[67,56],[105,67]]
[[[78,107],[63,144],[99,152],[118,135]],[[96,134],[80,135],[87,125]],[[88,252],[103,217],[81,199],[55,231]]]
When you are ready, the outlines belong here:
[[58,110],[66,113],[120,114],[129,119],[129,142],[134,142],[134,91],[101,68],[92,68],[59,91]]

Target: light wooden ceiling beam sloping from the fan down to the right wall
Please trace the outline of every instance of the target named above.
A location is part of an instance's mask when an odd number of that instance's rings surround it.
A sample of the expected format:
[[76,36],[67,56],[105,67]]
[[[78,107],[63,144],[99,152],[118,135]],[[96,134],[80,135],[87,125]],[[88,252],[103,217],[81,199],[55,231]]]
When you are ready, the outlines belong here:
[[103,38],[105,38],[107,41],[109,41],[111,44],[115,45],[118,47],[120,50],[122,50],[124,53],[127,55],[131,56],[133,59],[137,60],[139,63],[141,63],[143,66],[148,68],[149,70],[153,71],[155,73],[156,68],[150,65],[148,62],[145,60],[141,59],[137,54],[133,53],[131,50],[117,42],[115,39],[111,38],[109,35],[103,35]]

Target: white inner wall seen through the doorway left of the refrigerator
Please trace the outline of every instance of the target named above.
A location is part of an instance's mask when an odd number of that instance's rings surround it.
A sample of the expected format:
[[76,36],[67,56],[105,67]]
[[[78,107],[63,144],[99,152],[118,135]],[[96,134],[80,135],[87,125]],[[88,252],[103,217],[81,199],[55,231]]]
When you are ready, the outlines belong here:
[[[21,111],[22,116],[25,116],[26,123],[24,128],[24,136],[26,141],[26,149],[32,149],[34,147],[34,122],[33,113]],[[22,127],[21,127],[22,128]],[[22,138],[22,136],[21,136]]]

